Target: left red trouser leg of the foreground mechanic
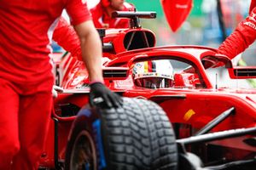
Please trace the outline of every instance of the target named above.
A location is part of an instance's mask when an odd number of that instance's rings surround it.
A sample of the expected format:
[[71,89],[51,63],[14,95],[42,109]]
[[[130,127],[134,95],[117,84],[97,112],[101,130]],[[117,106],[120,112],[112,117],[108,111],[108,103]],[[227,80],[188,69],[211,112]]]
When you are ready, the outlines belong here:
[[0,169],[10,169],[10,163],[20,149],[18,133],[19,94],[14,86],[0,78]]

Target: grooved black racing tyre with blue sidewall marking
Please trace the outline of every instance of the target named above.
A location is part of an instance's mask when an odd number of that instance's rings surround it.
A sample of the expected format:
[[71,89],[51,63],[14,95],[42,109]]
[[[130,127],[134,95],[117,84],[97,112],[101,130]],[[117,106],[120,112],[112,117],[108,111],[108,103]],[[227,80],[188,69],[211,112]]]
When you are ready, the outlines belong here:
[[82,109],[67,143],[65,169],[175,170],[172,124],[145,99],[124,98],[117,109]]

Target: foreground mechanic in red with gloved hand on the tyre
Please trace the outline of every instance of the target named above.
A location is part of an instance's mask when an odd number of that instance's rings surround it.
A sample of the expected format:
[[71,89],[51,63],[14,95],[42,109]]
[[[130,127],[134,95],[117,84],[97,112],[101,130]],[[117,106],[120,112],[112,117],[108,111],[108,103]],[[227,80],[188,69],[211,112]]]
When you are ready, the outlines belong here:
[[[90,74],[90,103],[122,99],[102,83],[102,43],[81,0],[0,1],[0,169],[38,169],[52,108],[49,42],[66,8]],[[90,50],[89,50],[90,49]]]

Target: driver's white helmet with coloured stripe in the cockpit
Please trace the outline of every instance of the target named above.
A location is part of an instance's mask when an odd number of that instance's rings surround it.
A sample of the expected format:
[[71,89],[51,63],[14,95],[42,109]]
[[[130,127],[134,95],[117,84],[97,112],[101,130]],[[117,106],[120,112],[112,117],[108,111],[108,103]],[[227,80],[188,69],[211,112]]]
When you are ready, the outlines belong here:
[[174,85],[170,60],[150,60],[134,64],[132,77],[135,85],[143,88],[170,88]]

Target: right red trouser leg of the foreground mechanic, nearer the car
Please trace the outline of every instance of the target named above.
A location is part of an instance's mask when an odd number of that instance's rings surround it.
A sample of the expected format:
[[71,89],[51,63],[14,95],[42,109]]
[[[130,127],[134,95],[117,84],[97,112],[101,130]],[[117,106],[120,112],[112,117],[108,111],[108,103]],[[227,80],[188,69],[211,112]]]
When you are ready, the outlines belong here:
[[[46,88],[45,87],[49,87]],[[44,149],[52,106],[52,83],[26,87],[29,95],[20,97],[19,133],[20,152],[15,156],[12,169],[38,169]],[[34,94],[31,94],[32,89]]]

